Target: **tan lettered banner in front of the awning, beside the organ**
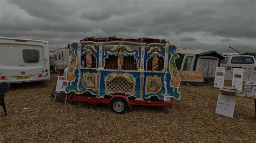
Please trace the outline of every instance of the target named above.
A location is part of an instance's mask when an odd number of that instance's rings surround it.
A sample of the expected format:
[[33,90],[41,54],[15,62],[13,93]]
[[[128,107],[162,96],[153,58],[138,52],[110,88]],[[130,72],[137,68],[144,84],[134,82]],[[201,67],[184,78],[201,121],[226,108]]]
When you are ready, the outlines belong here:
[[204,82],[203,71],[179,71],[181,81]]

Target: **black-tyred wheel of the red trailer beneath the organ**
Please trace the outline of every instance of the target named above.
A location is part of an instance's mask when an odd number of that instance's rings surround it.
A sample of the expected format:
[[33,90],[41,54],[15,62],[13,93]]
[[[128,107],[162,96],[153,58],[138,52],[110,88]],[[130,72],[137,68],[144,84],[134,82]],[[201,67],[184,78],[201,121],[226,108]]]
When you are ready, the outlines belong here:
[[129,109],[129,106],[124,98],[117,97],[110,102],[110,109],[115,113],[122,114]]

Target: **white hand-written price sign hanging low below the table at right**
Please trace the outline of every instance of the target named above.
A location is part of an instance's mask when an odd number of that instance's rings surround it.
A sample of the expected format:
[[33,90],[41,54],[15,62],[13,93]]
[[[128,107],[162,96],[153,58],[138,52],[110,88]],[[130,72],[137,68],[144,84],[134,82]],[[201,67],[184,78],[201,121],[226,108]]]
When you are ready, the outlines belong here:
[[235,97],[219,95],[215,113],[233,118],[235,108]]

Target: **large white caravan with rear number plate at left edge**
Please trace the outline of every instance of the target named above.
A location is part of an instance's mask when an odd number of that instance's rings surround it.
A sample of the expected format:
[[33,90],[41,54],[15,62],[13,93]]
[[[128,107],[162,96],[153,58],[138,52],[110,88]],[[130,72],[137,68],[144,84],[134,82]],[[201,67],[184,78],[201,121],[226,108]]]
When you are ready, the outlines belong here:
[[0,82],[49,79],[48,41],[0,37]]

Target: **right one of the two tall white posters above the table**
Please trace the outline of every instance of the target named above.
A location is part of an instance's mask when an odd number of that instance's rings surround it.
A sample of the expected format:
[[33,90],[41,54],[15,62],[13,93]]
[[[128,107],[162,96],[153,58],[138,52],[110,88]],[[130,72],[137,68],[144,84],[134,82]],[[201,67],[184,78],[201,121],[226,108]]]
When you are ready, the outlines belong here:
[[234,68],[233,69],[233,78],[232,78],[232,87],[237,90],[242,90],[242,76],[244,75],[244,69]]

